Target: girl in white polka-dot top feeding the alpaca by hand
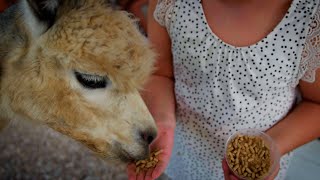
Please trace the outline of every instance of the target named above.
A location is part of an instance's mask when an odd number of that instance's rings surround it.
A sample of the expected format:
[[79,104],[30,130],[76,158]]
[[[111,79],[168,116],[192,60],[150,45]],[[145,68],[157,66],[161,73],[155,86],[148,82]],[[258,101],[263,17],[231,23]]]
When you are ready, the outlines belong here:
[[284,179],[290,151],[320,136],[319,0],[150,0],[148,24],[159,56],[144,98],[164,153],[129,178],[235,179],[225,142],[254,128],[282,156],[270,179]]

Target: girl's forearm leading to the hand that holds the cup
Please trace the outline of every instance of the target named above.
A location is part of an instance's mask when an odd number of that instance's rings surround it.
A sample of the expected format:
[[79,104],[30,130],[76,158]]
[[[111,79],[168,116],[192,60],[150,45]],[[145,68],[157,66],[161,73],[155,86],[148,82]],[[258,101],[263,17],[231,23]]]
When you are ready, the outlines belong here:
[[320,104],[301,102],[267,134],[275,140],[281,155],[320,137]]

